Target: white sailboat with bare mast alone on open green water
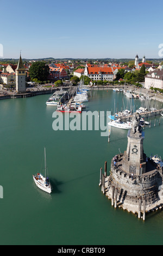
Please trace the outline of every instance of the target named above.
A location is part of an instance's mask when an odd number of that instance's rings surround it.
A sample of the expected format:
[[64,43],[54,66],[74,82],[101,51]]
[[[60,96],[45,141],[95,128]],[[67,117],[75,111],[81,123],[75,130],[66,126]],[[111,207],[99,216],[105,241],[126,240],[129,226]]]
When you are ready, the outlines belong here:
[[51,193],[52,192],[52,186],[49,182],[48,177],[46,176],[46,150],[44,150],[45,154],[45,176],[43,176],[41,173],[37,173],[36,175],[33,175],[34,182],[37,187],[39,187],[41,190]]

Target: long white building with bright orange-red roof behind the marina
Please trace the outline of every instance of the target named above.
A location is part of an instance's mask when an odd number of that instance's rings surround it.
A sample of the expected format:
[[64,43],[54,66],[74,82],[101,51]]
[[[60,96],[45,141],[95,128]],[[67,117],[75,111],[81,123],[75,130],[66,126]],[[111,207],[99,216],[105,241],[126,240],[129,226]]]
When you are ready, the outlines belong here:
[[111,67],[103,67],[103,66],[85,66],[84,76],[88,76],[91,80],[105,80],[105,81],[113,81],[114,74]]

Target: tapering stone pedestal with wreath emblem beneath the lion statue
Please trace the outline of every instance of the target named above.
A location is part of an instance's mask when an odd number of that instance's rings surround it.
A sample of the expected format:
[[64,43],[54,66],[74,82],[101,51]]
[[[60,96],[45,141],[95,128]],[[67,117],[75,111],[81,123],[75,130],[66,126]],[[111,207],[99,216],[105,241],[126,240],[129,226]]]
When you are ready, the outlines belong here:
[[143,136],[137,131],[128,132],[127,150],[124,151],[122,169],[124,172],[141,175],[146,172],[146,155],[143,153]]

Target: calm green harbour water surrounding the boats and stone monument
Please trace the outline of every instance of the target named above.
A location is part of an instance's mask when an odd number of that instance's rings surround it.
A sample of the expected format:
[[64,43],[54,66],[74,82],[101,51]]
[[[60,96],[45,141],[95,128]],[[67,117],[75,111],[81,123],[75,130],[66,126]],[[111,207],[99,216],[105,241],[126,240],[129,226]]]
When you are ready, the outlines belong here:
[[[127,147],[127,130],[54,131],[47,95],[0,101],[1,245],[162,245],[163,211],[146,215],[146,221],[114,209],[101,192],[99,170]],[[114,111],[129,106],[129,99],[112,90],[93,90],[87,111]],[[142,102],[134,100],[135,107]],[[160,102],[151,102],[161,108]],[[156,118],[156,120],[155,120]],[[143,147],[163,157],[162,127],[158,117],[145,128]],[[155,120],[155,127],[154,127]],[[32,175],[42,166],[46,147],[53,192],[34,184]]]

